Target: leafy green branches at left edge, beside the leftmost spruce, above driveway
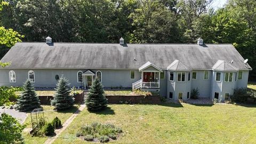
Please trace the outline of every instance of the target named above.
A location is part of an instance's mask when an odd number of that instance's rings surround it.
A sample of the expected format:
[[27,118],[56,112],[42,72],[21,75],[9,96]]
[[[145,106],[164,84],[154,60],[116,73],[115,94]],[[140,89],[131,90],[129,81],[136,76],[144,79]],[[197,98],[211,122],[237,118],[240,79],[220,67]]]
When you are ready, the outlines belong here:
[[0,86],[0,106],[10,105],[11,101],[17,100],[18,96],[15,94],[15,92],[20,90],[21,87]]

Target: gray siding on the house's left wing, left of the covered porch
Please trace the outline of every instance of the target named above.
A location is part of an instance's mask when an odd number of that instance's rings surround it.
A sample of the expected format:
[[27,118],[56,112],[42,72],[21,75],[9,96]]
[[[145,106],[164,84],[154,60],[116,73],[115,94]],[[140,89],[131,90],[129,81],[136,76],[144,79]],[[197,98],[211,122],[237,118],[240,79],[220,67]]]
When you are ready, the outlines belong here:
[[[14,70],[16,75],[16,83],[9,82],[9,71]],[[84,83],[77,82],[77,72],[79,70],[85,71],[86,69],[0,69],[0,85],[6,86],[22,86],[23,82],[28,78],[28,71],[33,70],[35,72],[35,87],[55,87],[57,81],[55,75],[60,77],[65,76],[70,83],[70,86],[84,86]],[[94,73],[99,69],[93,69]],[[141,73],[138,70],[135,71],[135,78],[130,78],[130,70],[108,70],[101,69],[102,84],[105,87],[111,86],[123,86],[132,87],[132,83],[141,79]]]

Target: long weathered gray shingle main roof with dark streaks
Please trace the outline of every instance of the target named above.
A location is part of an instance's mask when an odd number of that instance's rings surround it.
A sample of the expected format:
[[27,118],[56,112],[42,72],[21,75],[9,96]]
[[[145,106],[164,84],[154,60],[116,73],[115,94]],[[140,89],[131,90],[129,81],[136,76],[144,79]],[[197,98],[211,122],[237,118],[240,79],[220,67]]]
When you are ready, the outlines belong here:
[[[193,69],[212,69],[218,60],[233,60],[238,69],[250,69],[231,44],[102,44],[17,43],[2,58],[9,68],[138,69],[147,61],[166,69],[175,59]],[[249,60],[250,61],[250,60]]]

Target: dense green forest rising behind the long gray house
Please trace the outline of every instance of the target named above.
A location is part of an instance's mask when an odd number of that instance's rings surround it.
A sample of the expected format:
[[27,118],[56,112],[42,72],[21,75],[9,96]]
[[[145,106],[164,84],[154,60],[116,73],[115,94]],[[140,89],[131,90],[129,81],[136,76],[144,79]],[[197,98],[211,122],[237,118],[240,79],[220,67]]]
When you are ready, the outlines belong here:
[[[1,0],[0,0],[1,2]],[[228,0],[9,0],[0,10],[0,35],[21,41],[118,43],[229,43],[253,68],[256,79],[256,1]],[[1,7],[0,7],[1,8]],[[10,29],[11,28],[11,29]],[[18,40],[19,41],[19,40]],[[0,59],[14,43],[0,42]]]

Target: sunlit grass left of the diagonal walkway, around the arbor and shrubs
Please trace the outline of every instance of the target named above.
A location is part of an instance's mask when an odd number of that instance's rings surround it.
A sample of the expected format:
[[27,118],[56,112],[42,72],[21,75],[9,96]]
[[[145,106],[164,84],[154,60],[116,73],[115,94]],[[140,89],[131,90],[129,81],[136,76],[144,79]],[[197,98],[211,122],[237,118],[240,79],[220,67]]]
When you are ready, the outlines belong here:
[[[53,110],[54,107],[52,106],[42,106],[44,110]],[[68,110],[62,110],[62,111],[49,111],[45,112],[45,120],[47,122],[51,122],[53,118],[56,116],[60,118],[61,123],[63,124],[75,111],[77,110],[78,106],[75,105],[74,107],[68,109]],[[24,124],[27,124],[27,128],[31,127],[31,118],[30,114],[28,114],[28,117],[26,118]],[[23,138],[25,138],[25,143],[44,143],[44,141],[47,140],[47,137],[31,137],[29,132],[22,132]]]

